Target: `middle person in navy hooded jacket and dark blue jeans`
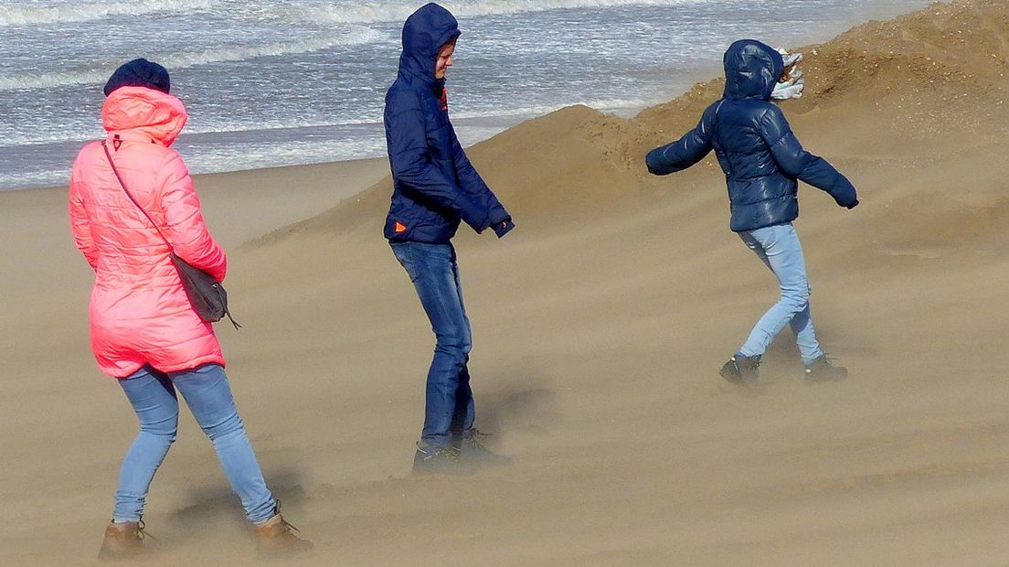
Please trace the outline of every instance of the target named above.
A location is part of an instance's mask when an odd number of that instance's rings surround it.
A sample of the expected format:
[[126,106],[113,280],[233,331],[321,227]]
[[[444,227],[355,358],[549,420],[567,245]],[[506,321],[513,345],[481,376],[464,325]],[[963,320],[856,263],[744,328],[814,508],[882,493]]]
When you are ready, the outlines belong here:
[[472,338],[451,240],[460,222],[477,233],[492,228],[498,238],[515,224],[469,162],[448,119],[445,74],[459,34],[455,17],[438,4],[414,12],[403,27],[399,76],[385,95],[393,168],[385,237],[437,337],[416,474],[459,473],[508,460],[484,448],[473,428],[467,368]]

